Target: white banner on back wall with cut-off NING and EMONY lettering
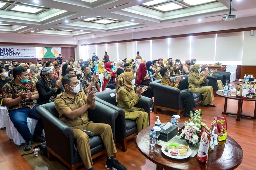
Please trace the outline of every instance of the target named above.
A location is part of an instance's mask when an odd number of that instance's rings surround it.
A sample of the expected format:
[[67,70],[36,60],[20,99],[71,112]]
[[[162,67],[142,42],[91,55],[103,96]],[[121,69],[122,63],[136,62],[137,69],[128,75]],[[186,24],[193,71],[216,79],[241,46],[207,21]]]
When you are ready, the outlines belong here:
[[35,47],[0,46],[0,59],[36,58]]

